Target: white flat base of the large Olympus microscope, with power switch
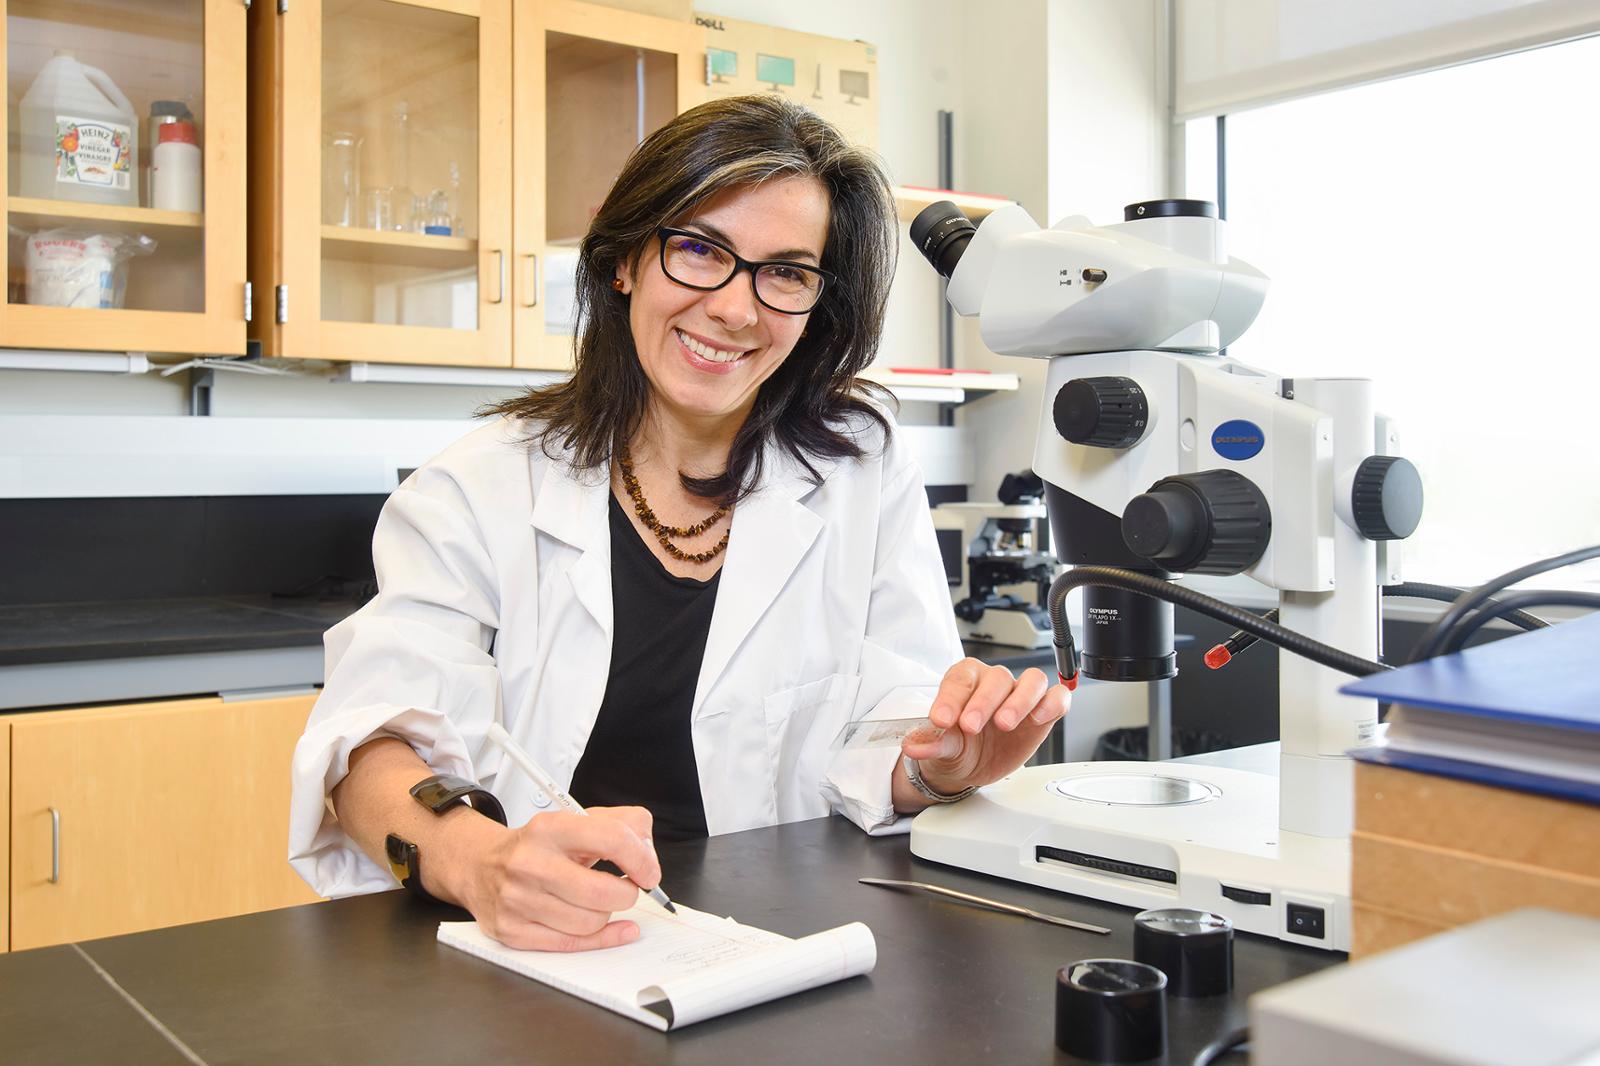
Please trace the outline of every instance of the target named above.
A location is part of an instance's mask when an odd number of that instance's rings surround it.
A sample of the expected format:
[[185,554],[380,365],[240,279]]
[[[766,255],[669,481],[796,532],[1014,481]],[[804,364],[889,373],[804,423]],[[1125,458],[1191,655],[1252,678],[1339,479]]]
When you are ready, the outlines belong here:
[[[1141,794],[1187,802],[1154,805]],[[1091,900],[1195,908],[1246,933],[1350,949],[1350,842],[1278,829],[1278,781],[1262,773],[1141,762],[1026,767],[918,815],[910,850]]]

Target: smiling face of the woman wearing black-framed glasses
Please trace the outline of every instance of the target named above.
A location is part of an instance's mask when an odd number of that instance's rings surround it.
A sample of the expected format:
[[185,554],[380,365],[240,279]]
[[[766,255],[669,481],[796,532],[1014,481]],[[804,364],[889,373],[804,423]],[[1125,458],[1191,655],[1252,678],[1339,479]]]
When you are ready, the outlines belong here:
[[[821,266],[827,211],[822,182],[795,176],[726,189],[670,224],[744,259]],[[629,293],[629,325],[651,402],[683,423],[742,423],[810,317],[762,306],[749,271],[709,293],[678,285],[661,272],[659,237],[640,254],[635,274],[619,266],[618,279]]]

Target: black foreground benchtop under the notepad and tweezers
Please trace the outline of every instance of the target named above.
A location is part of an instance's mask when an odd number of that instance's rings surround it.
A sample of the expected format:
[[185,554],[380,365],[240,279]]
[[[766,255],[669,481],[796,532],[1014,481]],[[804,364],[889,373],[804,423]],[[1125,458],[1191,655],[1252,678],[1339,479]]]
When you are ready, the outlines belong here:
[[[1077,1063],[1054,1047],[1056,970],[1133,957],[1133,911],[971,874],[819,818],[662,845],[688,906],[805,936],[866,922],[869,976],[656,1032],[437,943],[464,912],[403,892],[0,956],[6,1061],[51,1063]],[[856,884],[928,880],[1107,925],[1042,925]],[[1168,1055],[1243,1024],[1245,997],[1342,956],[1240,935],[1235,989],[1170,999]],[[104,972],[104,976],[101,975]],[[133,1002],[118,1008],[115,981]],[[152,1040],[147,1012],[195,1058]]]

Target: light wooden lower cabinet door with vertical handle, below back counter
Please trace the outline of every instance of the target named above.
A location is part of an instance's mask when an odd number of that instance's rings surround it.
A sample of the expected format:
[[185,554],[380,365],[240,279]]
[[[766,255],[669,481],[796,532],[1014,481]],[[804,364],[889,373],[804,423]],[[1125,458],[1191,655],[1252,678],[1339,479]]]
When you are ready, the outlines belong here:
[[286,858],[312,701],[13,717],[11,948],[315,901]]

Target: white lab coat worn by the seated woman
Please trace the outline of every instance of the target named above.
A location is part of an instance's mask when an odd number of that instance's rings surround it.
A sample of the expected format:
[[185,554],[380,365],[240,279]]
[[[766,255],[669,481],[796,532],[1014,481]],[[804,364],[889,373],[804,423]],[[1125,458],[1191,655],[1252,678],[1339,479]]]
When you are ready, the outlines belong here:
[[[290,861],[312,888],[394,887],[328,795],[376,735],[480,781],[522,824],[547,799],[486,739],[491,722],[571,781],[611,661],[606,474],[579,475],[499,421],[419,467],[373,536],[381,592],[328,631],[326,687],[294,749]],[[712,834],[837,810],[904,831],[898,747],[830,751],[864,717],[923,715],[962,658],[923,493],[901,437],[862,427],[862,459],[813,487],[768,450],[733,514],[691,733]]]

